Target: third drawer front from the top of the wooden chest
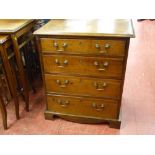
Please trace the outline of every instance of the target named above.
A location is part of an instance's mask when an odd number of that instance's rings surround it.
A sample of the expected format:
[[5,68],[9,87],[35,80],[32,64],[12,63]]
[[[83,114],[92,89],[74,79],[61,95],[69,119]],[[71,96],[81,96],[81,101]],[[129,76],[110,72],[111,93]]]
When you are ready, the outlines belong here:
[[120,98],[120,81],[45,74],[46,91],[92,97]]

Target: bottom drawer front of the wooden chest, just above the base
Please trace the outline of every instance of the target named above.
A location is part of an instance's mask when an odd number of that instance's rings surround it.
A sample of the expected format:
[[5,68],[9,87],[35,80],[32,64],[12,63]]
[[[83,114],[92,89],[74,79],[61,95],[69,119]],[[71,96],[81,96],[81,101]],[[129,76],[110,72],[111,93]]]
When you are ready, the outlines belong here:
[[47,95],[47,110],[52,112],[116,119],[117,109],[115,100]]

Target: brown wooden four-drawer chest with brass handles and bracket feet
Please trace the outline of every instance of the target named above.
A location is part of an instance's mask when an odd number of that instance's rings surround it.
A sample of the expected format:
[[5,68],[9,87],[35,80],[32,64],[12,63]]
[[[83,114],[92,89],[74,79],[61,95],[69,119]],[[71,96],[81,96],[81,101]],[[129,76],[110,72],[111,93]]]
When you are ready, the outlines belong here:
[[51,20],[35,33],[45,118],[120,127],[131,20]]

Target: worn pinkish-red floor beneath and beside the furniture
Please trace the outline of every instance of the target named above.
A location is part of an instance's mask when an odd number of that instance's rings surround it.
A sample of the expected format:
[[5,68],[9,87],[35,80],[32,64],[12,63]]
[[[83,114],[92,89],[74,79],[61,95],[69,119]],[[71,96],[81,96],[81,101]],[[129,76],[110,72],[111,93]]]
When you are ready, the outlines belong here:
[[135,34],[129,50],[120,130],[105,124],[45,120],[40,87],[36,94],[31,93],[29,113],[24,111],[21,100],[19,121],[15,119],[13,104],[7,106],[9,129],[3,130],[0,115],[0,134],[155,134],[155,21],[135,21]]

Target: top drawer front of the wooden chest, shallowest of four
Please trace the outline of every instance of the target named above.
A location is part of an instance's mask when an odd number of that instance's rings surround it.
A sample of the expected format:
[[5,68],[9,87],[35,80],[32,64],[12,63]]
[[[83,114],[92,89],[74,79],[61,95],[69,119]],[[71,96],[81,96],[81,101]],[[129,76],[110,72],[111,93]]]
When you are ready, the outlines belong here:
[[41,38],[42,52],[125,55],[125,40],[81,40]]

